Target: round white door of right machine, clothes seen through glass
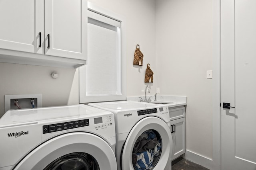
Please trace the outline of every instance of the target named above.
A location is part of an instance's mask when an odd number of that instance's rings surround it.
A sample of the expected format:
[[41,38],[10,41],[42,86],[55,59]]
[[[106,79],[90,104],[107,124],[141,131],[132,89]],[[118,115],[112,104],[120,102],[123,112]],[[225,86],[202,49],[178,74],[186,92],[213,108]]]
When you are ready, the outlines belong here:
[[172,137],[168,125],[158,117],[145,117],[134,125],[122,151],[122,170],[171,167]]

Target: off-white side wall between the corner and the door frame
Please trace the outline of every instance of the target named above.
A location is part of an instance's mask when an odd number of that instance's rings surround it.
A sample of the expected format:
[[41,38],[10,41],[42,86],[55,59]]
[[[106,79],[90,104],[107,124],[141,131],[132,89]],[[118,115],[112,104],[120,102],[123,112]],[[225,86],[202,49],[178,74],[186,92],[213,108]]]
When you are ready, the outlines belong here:
[[162,94],[187,96],[186,149],[212,159],[212,0],[156,0]]

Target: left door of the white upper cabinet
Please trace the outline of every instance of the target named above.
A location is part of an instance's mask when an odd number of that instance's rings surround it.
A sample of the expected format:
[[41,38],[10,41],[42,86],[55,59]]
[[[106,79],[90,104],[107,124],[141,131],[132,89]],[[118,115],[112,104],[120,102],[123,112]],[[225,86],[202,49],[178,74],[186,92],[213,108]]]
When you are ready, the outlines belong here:
[[0,0],[0,24],[1,49],[43,54],[43,0]]

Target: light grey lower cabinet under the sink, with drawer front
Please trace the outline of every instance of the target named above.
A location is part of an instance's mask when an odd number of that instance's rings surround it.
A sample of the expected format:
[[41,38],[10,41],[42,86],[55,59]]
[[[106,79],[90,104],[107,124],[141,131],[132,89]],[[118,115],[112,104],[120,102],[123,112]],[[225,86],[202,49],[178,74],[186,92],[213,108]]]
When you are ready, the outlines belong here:
[[186,151],[185,107],[169,107],[169,113],[171,125],[170,132],[172,133],[173,142],[172,160],[174,160]]

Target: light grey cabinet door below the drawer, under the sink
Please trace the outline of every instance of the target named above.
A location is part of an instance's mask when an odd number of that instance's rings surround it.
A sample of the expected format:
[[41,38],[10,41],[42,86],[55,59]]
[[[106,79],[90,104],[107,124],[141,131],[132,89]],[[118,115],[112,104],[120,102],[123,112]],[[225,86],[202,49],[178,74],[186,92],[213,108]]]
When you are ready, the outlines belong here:
[[185,117],[171,121],[172,160],[185,153]]

